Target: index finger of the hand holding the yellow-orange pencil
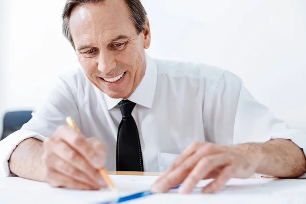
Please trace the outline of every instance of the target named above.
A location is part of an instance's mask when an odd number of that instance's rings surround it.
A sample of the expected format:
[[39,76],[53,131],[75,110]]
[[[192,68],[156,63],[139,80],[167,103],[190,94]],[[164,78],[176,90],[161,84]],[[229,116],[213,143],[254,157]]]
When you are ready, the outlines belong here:
[[57,137],[77,150],[93,167],[98,169],[104,166],[105,157],[98,154],[83,135],[68,125],[59,127],[58,131]]

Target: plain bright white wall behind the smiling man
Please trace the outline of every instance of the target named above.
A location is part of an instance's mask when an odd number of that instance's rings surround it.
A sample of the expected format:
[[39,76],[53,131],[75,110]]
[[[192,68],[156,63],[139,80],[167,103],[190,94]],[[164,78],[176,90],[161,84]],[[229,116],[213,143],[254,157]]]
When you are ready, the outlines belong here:
[[[35,109],[55,77],[79,65],[61,34],[65,0],[0,2],[3,115]],[[151,24],[151,57],[230,70],[276,116],[306,130],[306,1],[142,2]]]

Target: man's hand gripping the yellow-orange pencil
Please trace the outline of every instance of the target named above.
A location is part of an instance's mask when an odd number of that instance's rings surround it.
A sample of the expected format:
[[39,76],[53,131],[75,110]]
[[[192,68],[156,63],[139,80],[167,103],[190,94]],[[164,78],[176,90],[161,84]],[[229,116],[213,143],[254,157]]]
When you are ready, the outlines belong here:
[[86,138],[75,127],[63,125],[43,142],[43,150],[45,182],[51,186],[78,190],[108,187],[105,174],[99,172],[105,164],[106,147],[97,138]]

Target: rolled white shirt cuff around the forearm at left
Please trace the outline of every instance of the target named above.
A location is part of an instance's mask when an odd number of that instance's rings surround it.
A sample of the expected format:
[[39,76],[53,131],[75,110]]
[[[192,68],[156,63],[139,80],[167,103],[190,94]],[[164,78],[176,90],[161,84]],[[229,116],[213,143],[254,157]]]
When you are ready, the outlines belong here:
[[9,168],[9,159],[16,146],[25,139],[36,138],[44,141],[45,137],[29,130],[19,130],[0,141],[0,172],[5,176],[14,176]]

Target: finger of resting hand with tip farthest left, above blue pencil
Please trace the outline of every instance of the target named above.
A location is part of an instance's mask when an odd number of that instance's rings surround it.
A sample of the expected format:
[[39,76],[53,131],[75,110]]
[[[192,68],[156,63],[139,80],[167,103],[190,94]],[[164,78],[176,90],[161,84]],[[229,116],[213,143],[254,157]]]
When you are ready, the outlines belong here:
[[190,155],[172,171],[165,173],[152,186],[151,190],[157,193],[168,191],[171,187],[181,184],[195,167],[198,161],[209,154],[215,154],[214,145],[205,145]]

